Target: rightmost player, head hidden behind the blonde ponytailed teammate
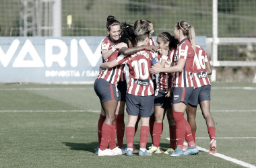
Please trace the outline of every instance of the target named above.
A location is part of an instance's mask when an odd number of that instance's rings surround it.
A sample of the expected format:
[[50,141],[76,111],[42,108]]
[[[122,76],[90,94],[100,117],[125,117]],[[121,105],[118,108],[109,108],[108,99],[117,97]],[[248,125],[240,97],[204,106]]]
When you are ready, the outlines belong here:
[[197,112],[197,104],[200,104],[200,108],[203,117],[206,121],[207,130],[210,136],[210,150],[208,153],[217,153],[216,144],[216,132],[214,118],[212,118],[210,112],[210,100],[211,100],[211,84],[207,75],[212,74],[212,67],[210,65],[210,59],[207,53],[199,45],[196,45],[196,56],[194,58],[194,73],[193,73],[193,85],[194,90],[189,98],[189,104],[187,106],[187,121],[191,126],[192,136],[195,141],[195,132],[197,125],[195,123],[195,116]]

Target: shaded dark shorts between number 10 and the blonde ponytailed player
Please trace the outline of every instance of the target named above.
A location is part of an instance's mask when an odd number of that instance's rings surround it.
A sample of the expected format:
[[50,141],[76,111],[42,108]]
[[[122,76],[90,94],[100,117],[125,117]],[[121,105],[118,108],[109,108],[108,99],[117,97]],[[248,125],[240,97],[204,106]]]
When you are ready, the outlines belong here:
[[166,93],[162,89],[156,89],[154,106],[161,106],[162,108],[172,108],[172,98],[165,97]]

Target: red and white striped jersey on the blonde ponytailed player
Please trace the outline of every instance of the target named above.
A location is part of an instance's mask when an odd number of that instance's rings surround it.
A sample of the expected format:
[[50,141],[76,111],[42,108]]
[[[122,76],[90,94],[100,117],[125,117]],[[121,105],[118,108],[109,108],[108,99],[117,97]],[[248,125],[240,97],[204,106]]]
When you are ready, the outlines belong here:
[[192,44],[188,38],[182,40],[175,52],[173,65],[178,64],[178,60],[183,58],[186,60],[183,71],[172,73],[172,87],[193,87],[192,73],[193,73],[193,59],[194,59],[194,50]]

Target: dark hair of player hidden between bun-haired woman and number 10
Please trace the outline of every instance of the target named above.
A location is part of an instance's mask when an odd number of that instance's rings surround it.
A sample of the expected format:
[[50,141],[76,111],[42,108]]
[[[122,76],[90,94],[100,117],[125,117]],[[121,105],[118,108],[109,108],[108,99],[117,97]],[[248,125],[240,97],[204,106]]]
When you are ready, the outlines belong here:
[[129,47],[129,40],[133,42],[136,38],[134,28],[126,22],[121,23],[121,38],[117,42],[125,42]]

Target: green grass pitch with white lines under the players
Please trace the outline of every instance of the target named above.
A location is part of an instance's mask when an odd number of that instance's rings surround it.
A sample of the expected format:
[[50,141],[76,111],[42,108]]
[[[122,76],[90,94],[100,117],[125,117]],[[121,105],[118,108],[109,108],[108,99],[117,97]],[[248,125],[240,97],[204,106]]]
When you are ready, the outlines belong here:
[[[243,167],[202,151],[186,157],[98,157],[100,101],[93,85],[5,84],[0,95],[0,167]],[[205,120],[197,110],[196,143],[208,149]],[[256,165],[256,85],[213,83],[211,110],[218,153]],[[164,150],[168,136],[165,118]],[[149,136],[147,146],[151,142]],[[139,131],[135,146],[139,149]]]

